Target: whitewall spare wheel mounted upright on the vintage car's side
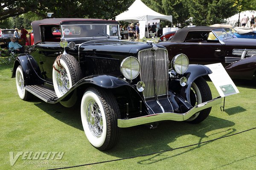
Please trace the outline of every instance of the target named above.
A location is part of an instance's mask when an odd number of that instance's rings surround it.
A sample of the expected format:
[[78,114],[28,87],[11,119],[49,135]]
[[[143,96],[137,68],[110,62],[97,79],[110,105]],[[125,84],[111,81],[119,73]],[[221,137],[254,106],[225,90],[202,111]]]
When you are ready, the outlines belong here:
[[59,55],[52,68],[53,87],[58,98],[82,78],[80,65],[75,57],[70,54]]

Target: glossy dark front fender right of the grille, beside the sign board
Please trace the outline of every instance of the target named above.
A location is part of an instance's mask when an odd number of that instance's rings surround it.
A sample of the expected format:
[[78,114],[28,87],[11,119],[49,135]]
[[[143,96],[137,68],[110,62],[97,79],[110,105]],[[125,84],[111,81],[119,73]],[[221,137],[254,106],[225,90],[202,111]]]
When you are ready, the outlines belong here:
[[198,77],[202,77],[208,74],[212,74],[212,71],[204,66],[204,65],[195,65],[191,64],[189,65],[188,70],[186,73],[183,74],[184,77],[187,79],[187,87],[186,87],[186,100],[190,103],[190,88],[192,83],[197,79]]

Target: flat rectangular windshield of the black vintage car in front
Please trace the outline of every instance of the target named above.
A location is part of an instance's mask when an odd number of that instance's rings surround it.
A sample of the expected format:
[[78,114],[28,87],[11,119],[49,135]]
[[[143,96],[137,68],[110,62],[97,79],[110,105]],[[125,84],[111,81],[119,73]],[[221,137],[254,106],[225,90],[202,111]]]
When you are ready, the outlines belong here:
[[80,24],[62,25],[61,34],[64,38],[81,37],[115,37],[118,38],[119,26],[111,24]]

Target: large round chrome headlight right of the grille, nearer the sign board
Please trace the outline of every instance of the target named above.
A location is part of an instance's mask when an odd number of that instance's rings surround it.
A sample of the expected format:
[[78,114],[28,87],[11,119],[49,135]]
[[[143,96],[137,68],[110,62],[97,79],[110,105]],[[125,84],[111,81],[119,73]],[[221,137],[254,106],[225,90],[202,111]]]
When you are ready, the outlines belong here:
[[171,66],[177,74],[183,74],[189,67],[189,59],[185,54],[178,54],[172,59]]

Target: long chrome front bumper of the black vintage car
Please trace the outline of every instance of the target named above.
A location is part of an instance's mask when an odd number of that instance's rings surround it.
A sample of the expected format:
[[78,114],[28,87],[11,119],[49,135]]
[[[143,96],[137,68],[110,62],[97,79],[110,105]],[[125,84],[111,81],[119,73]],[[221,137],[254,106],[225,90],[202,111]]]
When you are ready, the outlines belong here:
[[118,127],[132,127],[132,126],[143,125],[146,123],[158,122],[158,121],[163,121],[163,120],[184,121],[186,119],[189,119],[191,116],[193,116],[195,113],[197,113],[201,110],[210,108],[214,105],[221,104],[221,100],[222,100],[222,98],[221,98],[221,96],[219,96],[215,99],[209,100],[209,101],[201,103],[199,105],[196,105],[188,112],[182,113],[182,114],[181,113],[157,113],[157,114],[141,116],[141,117],[136,117],[136,118],[131,118],[131,119],[118,119],[117,126]]

